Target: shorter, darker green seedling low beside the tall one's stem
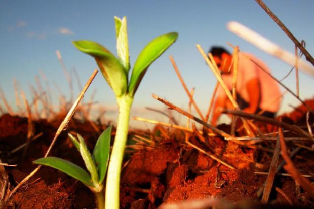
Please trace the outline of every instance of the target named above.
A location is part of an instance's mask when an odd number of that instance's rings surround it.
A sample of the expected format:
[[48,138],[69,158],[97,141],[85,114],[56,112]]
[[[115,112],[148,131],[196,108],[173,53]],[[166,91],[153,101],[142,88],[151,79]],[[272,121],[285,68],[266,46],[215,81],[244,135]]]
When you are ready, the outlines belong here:
[[33,161],[35,164],[46,165],[58,169],[67,175],[81,181],[95,194],[97,208],[104,208],[104,178],[107,170],[110,137],[112,126],[109,126],[98,138],[93,154],[87,149],[83,137],[77,138],[69,133],[69,137],[80,152],[88,172],[70,161],[58,157],[44,157]]

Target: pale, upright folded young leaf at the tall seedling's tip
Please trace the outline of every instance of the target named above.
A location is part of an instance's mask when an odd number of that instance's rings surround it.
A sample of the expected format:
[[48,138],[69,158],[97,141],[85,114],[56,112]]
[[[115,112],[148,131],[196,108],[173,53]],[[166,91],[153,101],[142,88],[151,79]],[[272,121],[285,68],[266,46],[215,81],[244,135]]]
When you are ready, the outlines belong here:
[[116,33],[116,50],[126,73],[130,69],[127,18],[114,17]]

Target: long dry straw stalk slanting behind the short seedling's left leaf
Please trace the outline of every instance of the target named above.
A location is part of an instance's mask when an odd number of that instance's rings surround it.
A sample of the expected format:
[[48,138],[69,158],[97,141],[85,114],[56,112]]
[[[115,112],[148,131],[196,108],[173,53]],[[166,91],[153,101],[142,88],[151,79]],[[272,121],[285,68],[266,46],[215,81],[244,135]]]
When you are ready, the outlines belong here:
[[[46,151],[46,154],[44,157],[47,157],[48,154],[50,153],[50,150],[52,149],[53,145],[55,144],[58,136],[60,135],[60,133],[66,129],[66,126],[68,124],[68,122],[70,121],[70,119],[72,118],[76,107],[78,105],[78,103],[80,103],[81,99],[83,98],[86,90],[88,89],[88,87],[90,86],[90,84],[92,83],[92,81],[94,80],[96,74],[98,73],[98,69],[95,69],[95,71],[93,72],[92,76],[90,77],[90,79],[88,80],[88,82],[85,84],[83,90],[81,91],[80,95],[78,95],[77,99],[74,101],[71,109],[69,110],[69,112],[67,113],[67,115],[65,116],[64,120],[62,121],[62,123],[60,124],[48,150]],[[10,198],[25,182],[27,182],[39,169],[41,168],[41,165],[38,165],[29,175],[27,175],[10,193],[10,195],[8,196],[8,198]]]

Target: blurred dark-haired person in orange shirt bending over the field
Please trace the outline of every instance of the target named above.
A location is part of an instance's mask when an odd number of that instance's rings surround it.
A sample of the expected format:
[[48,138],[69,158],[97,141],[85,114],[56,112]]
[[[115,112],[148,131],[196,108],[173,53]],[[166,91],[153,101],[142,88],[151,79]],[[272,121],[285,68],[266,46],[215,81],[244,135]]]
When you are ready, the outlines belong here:
[[[221,71],[223,81],[232,92],[232,54],[219,46],[211,47],[208,53],[213,55],[217,67]],[[271,73],[270,69],[264,62],[251,54],[239,53],[238,58],[236,92],[239,108],[246,113],[274,118],[281,103],[280,88],[278,83],[262,71],[259,66],[268,73]],[[225,108],[232,109],[233,106],[219,85],[214,103],[212,125],[217,124],[217,120]]]

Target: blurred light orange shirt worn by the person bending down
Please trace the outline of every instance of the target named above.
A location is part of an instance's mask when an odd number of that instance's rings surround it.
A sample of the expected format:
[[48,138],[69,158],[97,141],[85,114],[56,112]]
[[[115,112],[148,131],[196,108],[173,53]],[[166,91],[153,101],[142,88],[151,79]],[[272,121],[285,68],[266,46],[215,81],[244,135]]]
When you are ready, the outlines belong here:
[[[251,54],[244,53],[247,57],[254,60],[258,65],[260,65],[267,72],[270,72],[270,69],[267,65],[261,60],[257,59]],[[238,77],[237,77],[237,93],[245,100],[249,101],[248,91],[246,89],[247,82],[258,78],[260,83],[260,93],[261,100],[259,103],[259,108],[269,112],[277,112],[281,103],[281,92],[279,89],[278,83],[273,80],[269,75],[267,75],[259,66],[254,62],[249,60],[246,56],[239,53],[239,65],[238,65]],[[233,71],[231,70],[230,74],[222,75],[223,81],[229,90],[232,89],[232,79]],[[217,90],[218,97],[226,97],[221,85],[219,85]]]

